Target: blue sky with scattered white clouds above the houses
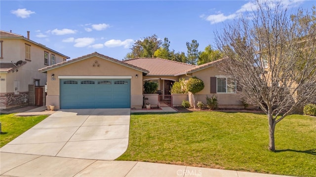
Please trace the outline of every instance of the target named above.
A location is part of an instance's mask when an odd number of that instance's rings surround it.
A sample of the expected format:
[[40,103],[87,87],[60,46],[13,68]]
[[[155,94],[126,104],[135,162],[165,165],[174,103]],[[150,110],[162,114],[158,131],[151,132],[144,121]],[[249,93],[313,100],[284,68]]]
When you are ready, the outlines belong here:
[[[311,9],[315,0],[282,0],[291,8]],[[187,52],[214,45],[214,31],[244,15],[249,0],[1,0],[0,29],[30,39],[71,59],[98,52],[122,60],[135,40],[168,37],[170,49]]]

